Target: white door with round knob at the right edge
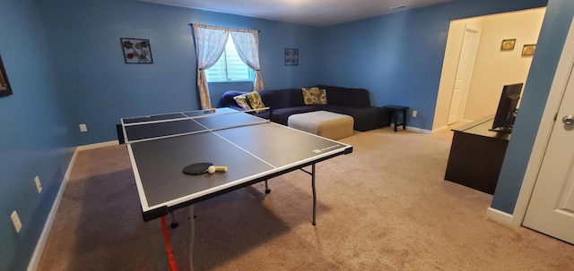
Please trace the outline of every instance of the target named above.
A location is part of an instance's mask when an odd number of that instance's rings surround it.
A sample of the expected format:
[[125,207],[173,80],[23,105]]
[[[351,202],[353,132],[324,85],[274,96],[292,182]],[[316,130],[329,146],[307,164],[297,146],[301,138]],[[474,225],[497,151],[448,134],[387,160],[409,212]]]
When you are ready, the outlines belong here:
[[572,63],[523,225],[574,243],[574,72],[571,67]]

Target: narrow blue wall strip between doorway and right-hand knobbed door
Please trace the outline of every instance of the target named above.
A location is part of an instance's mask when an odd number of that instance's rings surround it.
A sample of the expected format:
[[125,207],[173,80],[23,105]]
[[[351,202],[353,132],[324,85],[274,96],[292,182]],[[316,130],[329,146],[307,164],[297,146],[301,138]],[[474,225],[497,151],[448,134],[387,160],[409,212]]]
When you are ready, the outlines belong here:
[[491,207],[514,213],[538,125],[574,16],[574,1],[550,0]]

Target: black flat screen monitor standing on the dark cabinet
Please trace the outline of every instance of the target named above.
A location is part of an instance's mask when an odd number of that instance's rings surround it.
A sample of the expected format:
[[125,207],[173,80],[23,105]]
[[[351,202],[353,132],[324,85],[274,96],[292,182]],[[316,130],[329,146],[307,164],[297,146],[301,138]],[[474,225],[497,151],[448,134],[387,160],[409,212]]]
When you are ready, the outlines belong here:
[[518,100],[520,99],[520,92],[524,83],[517,83],[506,85],[502,88],[502,95],[500,95],[499,107],[494,115],[494,123],[492,123],[491,131],[512,131],[514,119],[516,118],[516,111]]

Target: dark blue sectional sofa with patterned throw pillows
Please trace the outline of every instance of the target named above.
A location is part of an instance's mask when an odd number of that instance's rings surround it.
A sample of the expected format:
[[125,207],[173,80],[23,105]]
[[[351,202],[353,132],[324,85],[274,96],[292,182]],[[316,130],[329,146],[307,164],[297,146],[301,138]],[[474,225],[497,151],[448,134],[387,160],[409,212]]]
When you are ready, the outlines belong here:
[[[287,125],[291,114],[307,113],[318,110],[330,111],[338,114],[347,114],[354,119],[353,130],[370,131],[381,128],[384,111],[381,107],[370,106],[369,91],[367,89],[348,89],[333,86],[316,86],[326,89],[326,105],[305,105],[301,89],[261,90],[259,95],[265,106],[271,107],[272,114],[263,112],[257,116]],[[237,105],[233,97],[247,93],[246,91],[228,90],[222,95],[221,106],[243,110]]]

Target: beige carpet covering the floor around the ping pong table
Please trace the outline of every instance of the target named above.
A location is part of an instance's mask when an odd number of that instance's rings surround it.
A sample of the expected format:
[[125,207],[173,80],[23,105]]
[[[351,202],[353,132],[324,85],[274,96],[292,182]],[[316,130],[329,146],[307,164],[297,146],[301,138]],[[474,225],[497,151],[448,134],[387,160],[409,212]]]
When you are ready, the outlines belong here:
[[[444,181],[452,134],[391,128],[317,164],[317,225],[300,171],[196,204],[195,270],[572,270],[574,246],[486,217],[491,195]],[[188,220],[170,229],[187,270]],[[78,154],[39,270],[168,270],[143,223],[125,146]]]

